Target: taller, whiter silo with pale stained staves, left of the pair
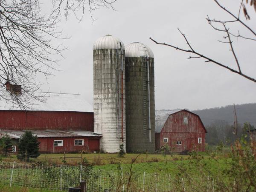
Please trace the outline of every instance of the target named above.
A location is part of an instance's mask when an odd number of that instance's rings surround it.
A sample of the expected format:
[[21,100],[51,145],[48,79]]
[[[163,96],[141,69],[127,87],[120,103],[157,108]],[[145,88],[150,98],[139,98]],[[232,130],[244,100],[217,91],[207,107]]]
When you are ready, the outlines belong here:
[[102,134],[100,149],[125,148],[125,46],[106,35],[93,45],[94,132]]

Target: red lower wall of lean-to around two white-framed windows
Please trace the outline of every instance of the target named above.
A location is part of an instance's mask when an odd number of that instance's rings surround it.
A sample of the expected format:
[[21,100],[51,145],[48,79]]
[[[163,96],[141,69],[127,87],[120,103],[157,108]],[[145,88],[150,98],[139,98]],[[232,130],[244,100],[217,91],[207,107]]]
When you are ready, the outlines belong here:
[[[53,146],[54,140],[63,140],[63,146]],[[75,140],[84,140],[83,146],[75,146]],[[99,138],[90,139],[90,137],[40,137],[41,153],[62,153],[78,151],[99,151]]]

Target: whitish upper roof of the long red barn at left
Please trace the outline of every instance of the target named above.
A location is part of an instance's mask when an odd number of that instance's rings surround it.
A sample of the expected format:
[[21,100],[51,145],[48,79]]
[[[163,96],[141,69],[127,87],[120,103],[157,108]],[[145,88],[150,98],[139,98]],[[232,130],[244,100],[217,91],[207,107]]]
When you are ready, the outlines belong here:
[[[1,92],[3,93],[3,92]],[[39,93],[38,93],[39,94]],[[66,93],[44,93],[45,101],[34,100],[27,111],[78,111],[93,112],[93,107],[86,100],[85,96]],[[22,110],[19,106],[10,102],[11,96],[5,91],[6,99],[0,98],[0,110]]]

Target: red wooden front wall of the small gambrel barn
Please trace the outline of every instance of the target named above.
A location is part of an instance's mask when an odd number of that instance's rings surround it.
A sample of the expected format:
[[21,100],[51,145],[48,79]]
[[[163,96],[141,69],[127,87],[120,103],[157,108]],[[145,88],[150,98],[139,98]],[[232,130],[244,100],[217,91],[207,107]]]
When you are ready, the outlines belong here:
[[[188,117],[188,124],[183,122],[183,117]],[[205,133],[203,123],[198,115],[183,110],[168,117],[159,134],[156,134],[156,149],[168,144],[175,152],[184,150],[204,151]],[[202,143],[198,143],[198,138],[202,138]],[[168,138],[168,143],[163,142],[163,138]],[[181,141],[181,145],[177,145]]]

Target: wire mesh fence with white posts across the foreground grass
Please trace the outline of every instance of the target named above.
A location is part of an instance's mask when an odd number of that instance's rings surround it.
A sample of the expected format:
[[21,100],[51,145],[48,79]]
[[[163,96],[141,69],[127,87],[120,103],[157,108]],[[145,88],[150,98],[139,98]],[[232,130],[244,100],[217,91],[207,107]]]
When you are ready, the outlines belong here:
[[[196,179],[196,178],[194,178]],[[174,177],[170,174],[132,173],[106,171],[86,166],[34,166],[16,162],[0,163],[0,183],[9,186],[27,186],[38,189],[64,190],[79,186],[81,180],[87,183],[87,192],[170,192],[196,191],[188,178]],[[200,178],[204,191],[214,191],[214,180]]]

